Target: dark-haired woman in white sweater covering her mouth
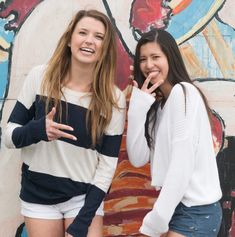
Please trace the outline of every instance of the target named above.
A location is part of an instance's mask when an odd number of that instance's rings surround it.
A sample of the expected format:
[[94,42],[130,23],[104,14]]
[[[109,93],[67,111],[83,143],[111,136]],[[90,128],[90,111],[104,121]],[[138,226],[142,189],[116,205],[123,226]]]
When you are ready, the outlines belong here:
[[128,156],[136,167],[150,161],[151,185],[161,189],[140,232],[151,237],[216,237],[222,194],[210,109],[168,32],[151,30],[142,35],[136,47],[134,80]]

